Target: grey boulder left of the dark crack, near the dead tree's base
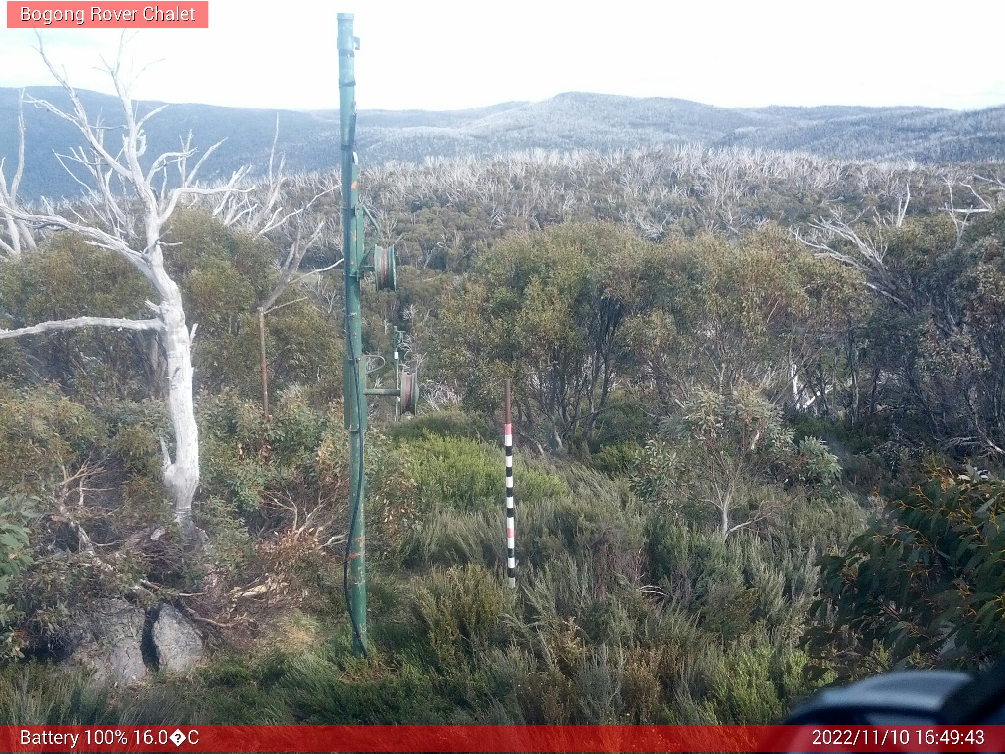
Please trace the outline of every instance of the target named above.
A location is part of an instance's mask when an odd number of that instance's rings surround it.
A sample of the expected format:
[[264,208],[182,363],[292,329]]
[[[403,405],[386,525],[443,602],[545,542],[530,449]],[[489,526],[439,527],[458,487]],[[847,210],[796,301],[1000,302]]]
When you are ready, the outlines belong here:
[[147,676],[143,627],[147,615],[121,597],[105,600],[72,631],[71,663],[90,670],[95,681],[131,684]]

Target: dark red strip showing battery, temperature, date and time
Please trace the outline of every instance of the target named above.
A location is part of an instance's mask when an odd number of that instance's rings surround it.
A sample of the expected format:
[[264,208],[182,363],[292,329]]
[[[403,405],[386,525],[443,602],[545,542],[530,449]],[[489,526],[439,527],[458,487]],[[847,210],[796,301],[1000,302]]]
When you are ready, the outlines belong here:
[[1005,726],[0,726],[5,752],[1005,751]]

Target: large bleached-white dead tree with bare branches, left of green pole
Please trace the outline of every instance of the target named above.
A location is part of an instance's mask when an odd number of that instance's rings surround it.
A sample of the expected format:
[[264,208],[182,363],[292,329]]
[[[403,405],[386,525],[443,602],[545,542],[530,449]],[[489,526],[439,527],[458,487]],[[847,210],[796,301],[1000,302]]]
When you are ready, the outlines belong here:
[[[183,534],[191,537],[196,533],[192,523],[192,500],[199,485],[199,431],[192,395],[192,338],[196,325],[189,329],[178,284],[165,267],[164,251],[170,244],[165,242],[164,233],[180,201],[192,196],[226,195],[237,191],[237,184],[246,170],[237,171],[223,185],[207,187],[197,184],[199,170],[222,142],[207,149],[195,166],[190,167],[189,160],[196,154],[191,146],[191,134],[182,141],[178,151],[160,155],[145,169],[141,164],[147,151],[144,126],[166,106],[140,118],[121,73],[122,47],[115,64],[105,66],[119,95],[125,118],[124,125],[116,129],[122,131],[121,145],[115,147],[107,139],[113,130],[103,125],[100,120],[90,120],[80,98],[69,84],[65,71],[56,69],[41,45],[39,53],[68,97],[70,108],[64,111],[33,97],[26,100],[68,122],[80,132],[83,146],[68,155],[57,155],[57,158],[83,186],[85,193],[81,205],[70,207],[62,214],[48,201],[43,202],[43,212],[25,210],[6,193],[0,196],[0,215],[12,217],[30,228],[68,230],[80,235],[92,246],[114,251],[143,273],[159,301],[147,302],[147,307],[154,314],[149,320],[77,317],[3,330],[0,331],[0,339],[88,327],[146,330],[157,334],[165,352],[168,405],[175,439],[172,458],[168,442],[161,438],[164,486],[174,506],[175,519]],[[172,173],[177,170],[173,180],[169,177],[169,168],[173,169]]]

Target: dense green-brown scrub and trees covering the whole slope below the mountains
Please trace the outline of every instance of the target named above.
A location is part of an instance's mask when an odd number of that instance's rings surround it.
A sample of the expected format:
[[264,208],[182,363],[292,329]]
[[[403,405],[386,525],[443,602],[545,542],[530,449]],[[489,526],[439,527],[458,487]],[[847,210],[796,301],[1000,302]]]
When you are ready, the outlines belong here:
[[[365,661],[343,594],[339,270],[268,318],[265,415],[254,313],[282,250],[198,206],[173,218],[203,547],[160,484],[151,334],[0,341],[0,718],[758,723],[894,664],[1000,656],[997,185],[965,224],[936,169],[737,154],[366,176],[410,262],[397,293],[367,285],[366,350],[404,322],[425,402],[401,422],[371,407]],[[0,262],[4,329],[139,316],[149,295],[67,234]],[[112,597],[176,605],[205,663],[118,689],[56,674]]]

